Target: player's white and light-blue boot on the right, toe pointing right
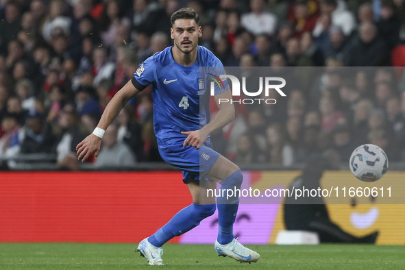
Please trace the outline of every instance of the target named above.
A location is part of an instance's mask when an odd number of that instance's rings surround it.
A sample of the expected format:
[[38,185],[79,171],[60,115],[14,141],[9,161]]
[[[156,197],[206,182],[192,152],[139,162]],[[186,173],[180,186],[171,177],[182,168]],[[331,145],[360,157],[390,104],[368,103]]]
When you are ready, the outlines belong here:
[[256,251],[243,247],[235,238],[227,245],[221,245],[215,241],[215,251],[217,251],[218,256],[231,257],[241,263],[257,262],[260,259],[260,255]]

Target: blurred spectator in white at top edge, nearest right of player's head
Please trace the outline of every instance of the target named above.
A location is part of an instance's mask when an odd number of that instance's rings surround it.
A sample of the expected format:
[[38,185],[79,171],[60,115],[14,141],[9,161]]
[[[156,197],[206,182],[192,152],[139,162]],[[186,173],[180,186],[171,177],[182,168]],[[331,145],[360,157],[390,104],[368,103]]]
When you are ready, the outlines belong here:
[[277,17],[265,11],[264,0],[251,0],[251,12],[245,13],[241,17],[241,25],[254,35],[275,34]]

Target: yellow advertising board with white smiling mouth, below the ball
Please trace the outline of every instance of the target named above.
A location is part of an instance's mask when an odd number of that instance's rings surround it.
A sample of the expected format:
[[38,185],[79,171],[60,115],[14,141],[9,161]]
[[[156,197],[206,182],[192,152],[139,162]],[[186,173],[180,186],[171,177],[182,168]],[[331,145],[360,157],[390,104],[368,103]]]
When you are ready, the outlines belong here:
[[[251,188],[257,188],[260,191],[280,185],[288,188],[300,173],[300,171],[251,172]],[[378,230],[380,232],[377,239],[378,245],[404,245],[404,180],[405,172],[398,171],[389,171],[381,180],[371,183],[357,180],[350,171],[328,171],[321,178],[321,188],[330,190],[330,187],[333,187],[332,196],[325,197],[324,200],[330,218],[343,230],[355,236],[364,236]],[[336,198],[336,187],[339,188],[338,198]],[[374,193],[376,197],[371,195],[373,187],[376,187],[374,191],[378,189],[378,194]],[[388,189],[390,187],[391,197]],[[350,188],[352,192],[349,194]],[[383,194],[380,188],[383,188]],[[368,194],[369,190],[370,194]],[[275,237],[280,230],[285,230],[282,207],[278,210],[269,243],[275,242]]]

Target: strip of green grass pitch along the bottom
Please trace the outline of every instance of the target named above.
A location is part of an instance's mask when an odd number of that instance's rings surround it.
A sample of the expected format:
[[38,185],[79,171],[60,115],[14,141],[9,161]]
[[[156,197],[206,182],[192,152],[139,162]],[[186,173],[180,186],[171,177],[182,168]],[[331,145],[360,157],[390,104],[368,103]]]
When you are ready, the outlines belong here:
[[[151,269],[137,245],[0,243],[0,269]],[[247,245],[256,263],[218,257],[213,245],[164,245],[164,269],[405,269],[405,246]]]

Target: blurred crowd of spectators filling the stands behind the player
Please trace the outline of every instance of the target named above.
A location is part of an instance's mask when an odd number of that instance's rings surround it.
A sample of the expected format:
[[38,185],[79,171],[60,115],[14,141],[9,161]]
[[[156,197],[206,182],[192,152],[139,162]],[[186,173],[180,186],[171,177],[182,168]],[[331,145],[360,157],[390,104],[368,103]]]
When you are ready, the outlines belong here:
[[[405,160],[403,70],[339,69],[405,66],[404,0],[0,0],[0,159],[56,154],[78,169],[75,146],[138,65],[172,44],[170,16],[184,6],[224,66],[279,67],[287,77],[293,67],[330,68],[315,85],[298,79],[276,105],[238,106],[212,134],[221,154],[289,167],[330,148],[346,160],[373,143]],[[161,160],[150,88],[102,143],[95,166]]]

